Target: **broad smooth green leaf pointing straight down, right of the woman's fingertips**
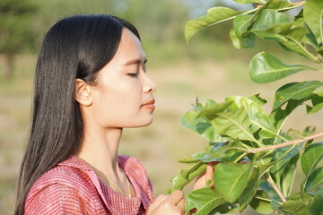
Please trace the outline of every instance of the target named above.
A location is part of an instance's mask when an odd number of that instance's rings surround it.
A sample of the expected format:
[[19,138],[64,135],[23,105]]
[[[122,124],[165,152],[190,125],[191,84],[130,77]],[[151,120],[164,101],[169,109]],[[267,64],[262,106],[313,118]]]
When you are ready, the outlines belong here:
[[249,183],[253,173],[253,163],[225,164],[220,163],[214,173],[216,190],[228,202],[235,202]]

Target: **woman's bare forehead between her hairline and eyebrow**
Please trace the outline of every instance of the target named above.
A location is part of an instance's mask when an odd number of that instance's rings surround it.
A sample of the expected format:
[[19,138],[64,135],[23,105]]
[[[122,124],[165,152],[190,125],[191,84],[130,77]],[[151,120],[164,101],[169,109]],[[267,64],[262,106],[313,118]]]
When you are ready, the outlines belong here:
[[123,64],[133,59],[144,59],[144,50],[140,40],[133,32],[124,28],[121,34],[120,44],[116,55],[112,61],[115,63]]

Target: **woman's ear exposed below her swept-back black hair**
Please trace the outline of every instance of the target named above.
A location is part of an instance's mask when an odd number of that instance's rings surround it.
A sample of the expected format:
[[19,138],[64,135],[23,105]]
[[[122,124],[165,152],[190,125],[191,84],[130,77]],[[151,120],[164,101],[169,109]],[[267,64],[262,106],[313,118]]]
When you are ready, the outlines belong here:
[[82,79],[75,81],[75,100],[86,107],[92,105],[91,86]]

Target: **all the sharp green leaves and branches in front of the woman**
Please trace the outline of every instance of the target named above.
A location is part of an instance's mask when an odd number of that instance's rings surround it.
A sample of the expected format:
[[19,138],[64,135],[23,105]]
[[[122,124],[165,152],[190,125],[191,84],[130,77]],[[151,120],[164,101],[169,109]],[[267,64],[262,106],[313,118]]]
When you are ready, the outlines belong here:
[[[252,47],[256,37],[273,40],[284,50],[311,61],[323,63],[323,2],[307,0],[290,3],[285,0],[234,0],[254,5],[254,9],[238,12],[214,7],[205,16],[186,26],[187,41],[207,26],[233,20],[230,37],[237,48]],[[284,12],[303,7],[291,19]],[[317,70],[308,65],[284,64],[266,51],[254,56],[249,64],[253,82],[274,82],[293,73]],[[288,129],[284,122],[296,107],[306,105],[307,114],[323,107],[323,82],[285,83],[275,91],[270,114],[262,106],[266,99],[258,94],[250,97],[231,96],[218,103],[205,99],[186,113],[181,124],[200,134],[210,144],[204,152],[179,160],[188,165],[171,182],[170,192],[182,189],[205,172],[206,163],[214,162],[213,183],[192,191],[186,200],[188,214],[214,214],[244,211],[248,205],[259,213],[278,211],[284,214],[321,214],[323,175],[319,162],[323,159],[323,142],[314,142],[323,133],[315,128],[303,132]],[[292,133],[294,133],[292,135]],[[297,136],[299,139],[295,139]],[[298,193],[292,193],[298,160],[305,176]],[[319,168],[318,168],[319,167]]]

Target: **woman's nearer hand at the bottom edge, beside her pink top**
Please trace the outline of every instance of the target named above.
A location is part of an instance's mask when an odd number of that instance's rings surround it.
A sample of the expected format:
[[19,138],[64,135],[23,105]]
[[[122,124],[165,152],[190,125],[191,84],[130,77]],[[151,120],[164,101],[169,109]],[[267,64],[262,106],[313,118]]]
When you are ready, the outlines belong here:
[[184,193],[174,191],[170,195],[159,195],[155,201],[151,203],[146,215],[184,215]]

